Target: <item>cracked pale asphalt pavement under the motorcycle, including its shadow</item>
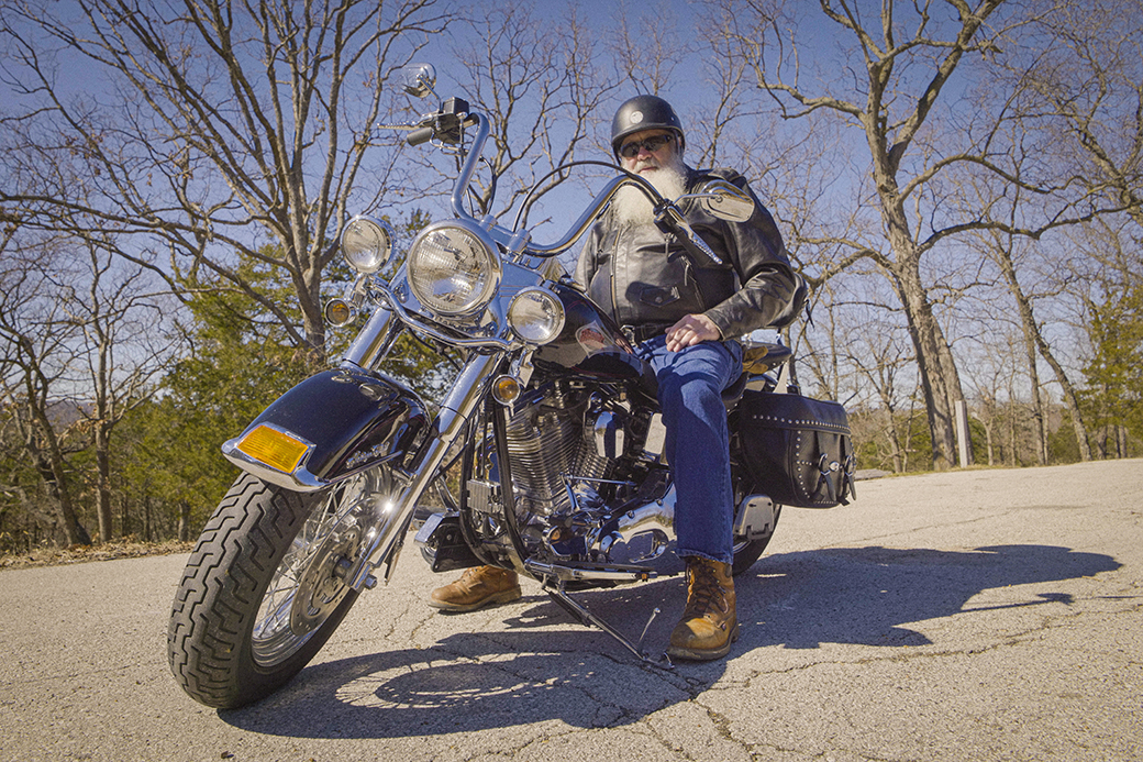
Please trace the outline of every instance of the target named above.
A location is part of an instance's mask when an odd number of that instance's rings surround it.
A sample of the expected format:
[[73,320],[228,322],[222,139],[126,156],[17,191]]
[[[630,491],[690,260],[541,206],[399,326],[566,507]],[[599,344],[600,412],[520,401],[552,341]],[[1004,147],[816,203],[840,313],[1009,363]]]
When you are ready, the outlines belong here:
[[[424,605],[407,545],[318,658],[216,712],[166,662],[186,556],[0,572],[0,760],[1143,759],[1143,461],[860,482],[785,509],[725,661],[664,672],[538,585]],[[411,538],[410,538],[411,540]],[[679,578],[580,594],[661,651]]]

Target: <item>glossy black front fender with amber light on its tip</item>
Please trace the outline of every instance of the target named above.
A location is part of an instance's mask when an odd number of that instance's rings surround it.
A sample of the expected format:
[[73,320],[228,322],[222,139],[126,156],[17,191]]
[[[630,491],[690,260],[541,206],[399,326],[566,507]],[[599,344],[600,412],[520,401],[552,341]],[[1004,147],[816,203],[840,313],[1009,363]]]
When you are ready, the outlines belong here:
[[265,482],[312,492],[400,460],[426,421],[424,403],[408,387],[343,366],[287,391],[222,452]]

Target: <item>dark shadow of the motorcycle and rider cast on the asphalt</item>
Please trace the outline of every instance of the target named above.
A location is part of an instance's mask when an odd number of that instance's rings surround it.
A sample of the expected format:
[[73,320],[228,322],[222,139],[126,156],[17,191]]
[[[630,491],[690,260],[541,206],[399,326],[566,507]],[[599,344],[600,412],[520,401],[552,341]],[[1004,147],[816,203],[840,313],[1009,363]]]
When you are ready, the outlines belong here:
[[[729,659],[765,659],[759,651],[774,646],[925,645],[929,638],[908,624],[1071,603],[1066,593],[1037,590],[1014,603],[966,610],[966,602],[982,590],[1090,577],[1119,566],[1105,555],[1029,545],[973,551],[831,548],[768,556],[736,578],[742,636]],[[535,589],[531,585],[526,592]],[[573,595],[633,640],[661,606],[663,614],[645,645],[654,654],[665,648],[685,593],[677,577]],[[642,665],[543,594],[496,611],[503,612],[503,628],[447,635],[426,649],[313,665],[277,694],[218,716],[246,730],[301,738],[418,737],[553,720],[609,728],[687,701],[727,670],[725,660],[680,664],[673,672]],[[439,619],[465,627],[464,617]]]

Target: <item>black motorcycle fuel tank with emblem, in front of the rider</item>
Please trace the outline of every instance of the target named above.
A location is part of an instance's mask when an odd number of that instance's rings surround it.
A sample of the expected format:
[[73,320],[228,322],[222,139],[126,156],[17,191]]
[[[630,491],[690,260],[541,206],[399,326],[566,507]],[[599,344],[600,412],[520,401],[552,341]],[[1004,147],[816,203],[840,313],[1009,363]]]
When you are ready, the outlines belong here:
[[554,284],[552,291],[563,303],[563,331],[533,356],[537,368],[607,381],[647,379],[649,366],[609,315],[570,286]]

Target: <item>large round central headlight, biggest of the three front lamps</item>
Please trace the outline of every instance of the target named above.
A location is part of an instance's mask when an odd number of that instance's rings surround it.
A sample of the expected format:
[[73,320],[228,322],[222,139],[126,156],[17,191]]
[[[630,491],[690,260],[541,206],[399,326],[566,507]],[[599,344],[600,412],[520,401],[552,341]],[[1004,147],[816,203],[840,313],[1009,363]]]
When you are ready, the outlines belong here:
[[450,317],[471,315],[488,304],[502,270],[488,233],[463,221],[425,228],[409,248],[406,268],[417,301]]

